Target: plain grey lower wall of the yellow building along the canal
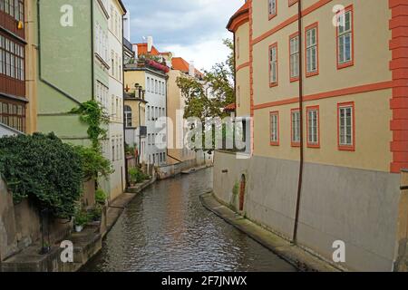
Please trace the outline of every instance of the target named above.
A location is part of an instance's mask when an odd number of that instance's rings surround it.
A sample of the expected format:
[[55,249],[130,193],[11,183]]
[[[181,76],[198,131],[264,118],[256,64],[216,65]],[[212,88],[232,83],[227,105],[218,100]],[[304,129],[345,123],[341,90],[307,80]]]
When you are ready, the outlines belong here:
[[[234,186],[247,179],[243,215],[292,239],[299,164],[217,151],[214,193],[236,208]],[[297,242],[331,261],[336,240],[345,242],[345,266],[393,269],[400,176],[387,172],[306,163]]]

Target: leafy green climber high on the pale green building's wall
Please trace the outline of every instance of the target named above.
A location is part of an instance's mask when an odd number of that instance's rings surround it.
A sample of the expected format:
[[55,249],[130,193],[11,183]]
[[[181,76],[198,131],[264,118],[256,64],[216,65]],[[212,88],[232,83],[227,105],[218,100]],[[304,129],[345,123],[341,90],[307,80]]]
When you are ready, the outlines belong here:
[[109,123],[109,116],[103,111],[102,105],[95,101],[83,102],[79,108],[74,108],[71,113],[79,114],[80,120],[89,126],[87,132],[92,141],[92,147],[99,149],[99,140],[106,139],[107,133],[102,125]]

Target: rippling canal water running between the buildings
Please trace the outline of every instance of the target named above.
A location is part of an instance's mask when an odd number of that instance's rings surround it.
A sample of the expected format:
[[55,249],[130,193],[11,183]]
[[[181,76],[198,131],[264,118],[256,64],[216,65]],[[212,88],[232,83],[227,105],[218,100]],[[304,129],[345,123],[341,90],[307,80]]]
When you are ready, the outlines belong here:
[[138,195],[83,267],[92,272],[295,271],[204,208],[212,169],[160,181]]

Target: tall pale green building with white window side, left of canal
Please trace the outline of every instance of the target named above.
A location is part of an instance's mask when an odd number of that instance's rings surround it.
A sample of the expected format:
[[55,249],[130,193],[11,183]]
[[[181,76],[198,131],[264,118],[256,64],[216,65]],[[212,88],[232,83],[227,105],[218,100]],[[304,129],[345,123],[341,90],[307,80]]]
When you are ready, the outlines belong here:
[[[91,146],[87,124],[70,113],[83,102],[97,101],[110,115],[103,154],[114,173],[100,185],[110,199],[123,192],[121,1],[32,1],[37,49],[37,130],[55,132],[65,142]],[[58,11],[59,13],[55,13]]]

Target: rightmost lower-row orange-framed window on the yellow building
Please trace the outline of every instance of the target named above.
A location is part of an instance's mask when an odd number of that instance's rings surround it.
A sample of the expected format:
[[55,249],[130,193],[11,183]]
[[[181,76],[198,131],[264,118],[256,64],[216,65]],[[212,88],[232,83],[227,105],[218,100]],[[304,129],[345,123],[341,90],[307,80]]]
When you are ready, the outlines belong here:
[[355,103],[337,105],[339,150],[355,150]]

